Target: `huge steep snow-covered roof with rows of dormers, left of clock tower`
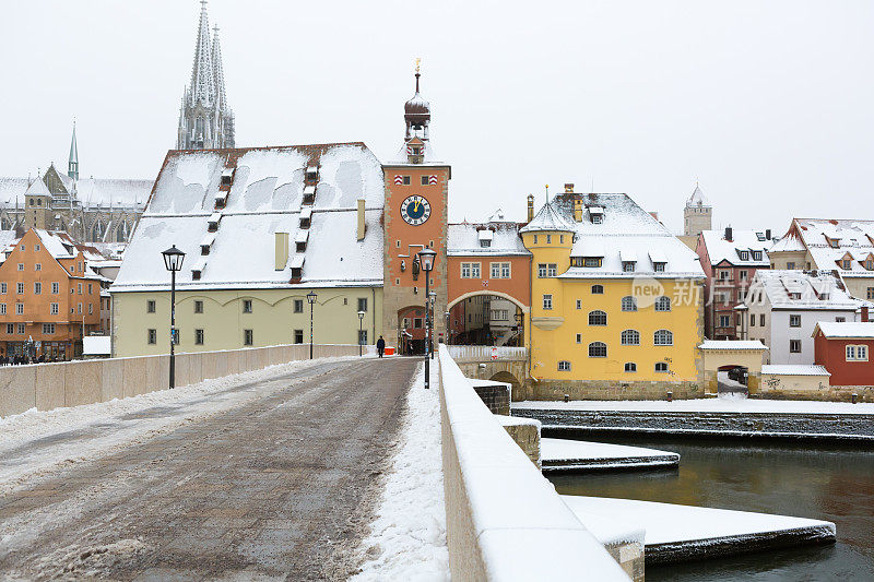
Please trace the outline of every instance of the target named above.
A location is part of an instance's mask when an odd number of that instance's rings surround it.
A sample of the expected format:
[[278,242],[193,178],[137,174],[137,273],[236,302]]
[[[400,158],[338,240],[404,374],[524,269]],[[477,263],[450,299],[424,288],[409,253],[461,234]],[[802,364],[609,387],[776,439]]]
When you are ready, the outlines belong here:
[[[292,263],[275,268],[275,233],[297,239],[307,166],[319,166],[300,285],[382,284],[385,203],[382,167],[363,143],[216,151],[173,151],[130,241],[113,292],[166,288],[161,252],[187,253],[177,274],[182,288],[293,286]],[[226,167],[236,165],[227,203],[199,280],[191,274],[214,194]],[[356,236],[357,200],[365,200],[366,235]],[[290,249],[294,257],[294,248]],[[296,284],[295,284],[296,285]]]

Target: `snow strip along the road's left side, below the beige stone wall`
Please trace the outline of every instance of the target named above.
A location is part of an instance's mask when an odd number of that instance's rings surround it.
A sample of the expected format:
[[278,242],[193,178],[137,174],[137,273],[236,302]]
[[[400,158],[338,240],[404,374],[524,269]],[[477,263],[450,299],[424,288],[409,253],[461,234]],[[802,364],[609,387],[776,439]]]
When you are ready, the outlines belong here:
[[[293,361],[175,390],[0,418],[0,495],[59,465],[97,459],[239,406],[273,390],[263,382],[279,375],[344,359],[357,356]],[[256,382],[262,383],[240,388]]]

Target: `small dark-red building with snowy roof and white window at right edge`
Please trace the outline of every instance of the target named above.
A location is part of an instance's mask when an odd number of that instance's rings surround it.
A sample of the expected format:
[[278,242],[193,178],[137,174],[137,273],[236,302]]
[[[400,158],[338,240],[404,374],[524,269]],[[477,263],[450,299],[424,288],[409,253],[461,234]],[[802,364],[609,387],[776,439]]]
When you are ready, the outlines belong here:
[[831,385],[874,384],[874,322],[820,321],[813,338],[814,361],[831,373]]

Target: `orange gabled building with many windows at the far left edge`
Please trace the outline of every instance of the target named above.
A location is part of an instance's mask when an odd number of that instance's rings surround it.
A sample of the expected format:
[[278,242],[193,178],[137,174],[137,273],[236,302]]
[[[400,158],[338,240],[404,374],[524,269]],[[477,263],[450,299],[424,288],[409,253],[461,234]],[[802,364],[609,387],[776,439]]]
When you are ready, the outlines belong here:
[[108,280],[66,233],[36,228],[4,251],[0,264],[0,355],[67,360],[82,336],[101,330],[101,289]]

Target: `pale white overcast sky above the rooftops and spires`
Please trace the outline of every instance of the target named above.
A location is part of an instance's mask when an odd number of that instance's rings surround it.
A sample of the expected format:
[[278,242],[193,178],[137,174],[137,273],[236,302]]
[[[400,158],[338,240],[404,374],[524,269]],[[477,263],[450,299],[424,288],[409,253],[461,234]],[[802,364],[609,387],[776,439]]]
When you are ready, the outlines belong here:
[[[450,219],[529,192],[627,192],[674,231],[874,218],[874,2],[211,0],[238,146],[393,157],[422,57]],[[2,0],[0,175],[154,178],[175,146],[196,0]]]

